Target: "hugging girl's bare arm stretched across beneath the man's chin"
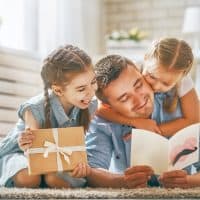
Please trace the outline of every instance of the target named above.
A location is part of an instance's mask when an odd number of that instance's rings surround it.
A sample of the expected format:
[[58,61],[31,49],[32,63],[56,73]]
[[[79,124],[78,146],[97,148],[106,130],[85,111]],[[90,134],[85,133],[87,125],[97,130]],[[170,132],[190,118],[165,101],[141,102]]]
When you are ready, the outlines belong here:
[[104,104],[101,104],[99,106],[98,110],[96,111],[96,114],[108,121],[125,124],[128,126],[133,126],[135,128],[145,129],[161,134],[161,131],[154,120],[143,118],[128,118],[115,112],[109,106]]

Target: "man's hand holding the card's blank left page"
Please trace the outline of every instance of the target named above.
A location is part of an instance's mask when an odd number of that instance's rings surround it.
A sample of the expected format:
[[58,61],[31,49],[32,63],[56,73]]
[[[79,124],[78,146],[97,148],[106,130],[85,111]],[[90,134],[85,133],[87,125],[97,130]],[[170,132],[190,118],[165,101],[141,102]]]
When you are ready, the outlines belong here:
[[153,174],[149,166],[140,165],[128,168],[124,173],[124,181],[127,188],[142,188],[147,186],[147,181]]

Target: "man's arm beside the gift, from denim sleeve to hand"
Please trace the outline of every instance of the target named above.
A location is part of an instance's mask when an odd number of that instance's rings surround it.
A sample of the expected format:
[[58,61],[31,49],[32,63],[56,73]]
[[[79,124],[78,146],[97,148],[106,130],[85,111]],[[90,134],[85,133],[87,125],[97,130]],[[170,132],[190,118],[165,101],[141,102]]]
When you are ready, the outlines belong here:
[[[146,186],[149,171],[146,166],[132,167],[125,174],[108,171],[113,153],[112,127],[109,123],[94,118],[86,134],[88,162],[91,166],[87,175],[88,184],[92,187],[133,188]],[[124,155],[125,156],[125,155]],[[150,169],[150,170],[149,170]]]

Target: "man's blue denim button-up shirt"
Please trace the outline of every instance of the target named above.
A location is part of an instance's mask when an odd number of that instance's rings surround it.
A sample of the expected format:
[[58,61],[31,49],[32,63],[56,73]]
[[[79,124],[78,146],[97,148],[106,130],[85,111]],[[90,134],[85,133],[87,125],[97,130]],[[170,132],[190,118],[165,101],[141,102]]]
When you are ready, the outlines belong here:
[[[163,99],[169,93],[155,94],[154,111],[151,118],[157,123],[167,122],[182,116],[180,102],[173,113],[163,109]],[[131,140],[123,136],[131,133],[132,127],[113,123],[95,116],[86,134],[86,146],[89,164],[94,168],[110,169],[114,173],[123,173],[130,167]],[[146,147],[148,150],[148,145]]]

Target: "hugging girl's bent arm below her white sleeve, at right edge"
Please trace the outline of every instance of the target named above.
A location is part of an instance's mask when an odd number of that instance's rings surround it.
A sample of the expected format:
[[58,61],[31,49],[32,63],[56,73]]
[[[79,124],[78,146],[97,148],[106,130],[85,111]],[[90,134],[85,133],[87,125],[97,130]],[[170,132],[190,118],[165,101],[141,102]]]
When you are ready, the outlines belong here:
[[170,137],[178,130],[200,122],[200,103],[195,89],[180,98],[183,117],[159,125],[162,135]]

